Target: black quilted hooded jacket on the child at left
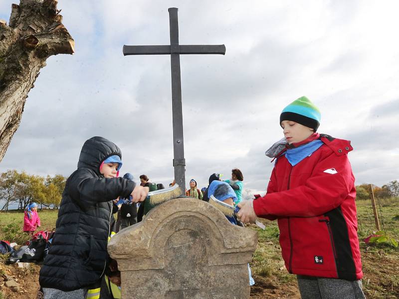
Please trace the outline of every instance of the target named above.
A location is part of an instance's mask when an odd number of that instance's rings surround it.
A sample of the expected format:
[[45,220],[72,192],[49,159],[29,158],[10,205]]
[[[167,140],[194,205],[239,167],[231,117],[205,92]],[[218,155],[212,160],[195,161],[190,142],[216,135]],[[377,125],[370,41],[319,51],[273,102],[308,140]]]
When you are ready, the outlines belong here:
[[100,165],[121,150],[103,137],[87,140],[77,170],[65,184],[56,230],[40,270],[43,288],[64,292],[95,285],[105,271],[110,234],[112,200],[129,197],[135,183],[123,178],[104,178]]

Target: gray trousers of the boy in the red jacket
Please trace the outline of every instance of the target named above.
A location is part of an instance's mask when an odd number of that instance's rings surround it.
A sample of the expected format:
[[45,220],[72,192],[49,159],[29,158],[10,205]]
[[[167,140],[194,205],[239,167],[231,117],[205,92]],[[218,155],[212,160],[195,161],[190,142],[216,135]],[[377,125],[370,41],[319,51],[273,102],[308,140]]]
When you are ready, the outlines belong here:
[[302,299],[366,299],[362,281],[297,275]]

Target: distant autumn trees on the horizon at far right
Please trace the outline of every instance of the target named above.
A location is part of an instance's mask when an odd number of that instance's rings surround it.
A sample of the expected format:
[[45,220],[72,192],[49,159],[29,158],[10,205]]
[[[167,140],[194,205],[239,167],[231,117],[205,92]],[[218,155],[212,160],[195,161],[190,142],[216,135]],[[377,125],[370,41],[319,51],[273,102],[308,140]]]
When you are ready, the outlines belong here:
[[399,181],[389,182],[382,187],[374,184],[356,186],[356,199],[370,199],[373,193],[376,199],[399,198]]

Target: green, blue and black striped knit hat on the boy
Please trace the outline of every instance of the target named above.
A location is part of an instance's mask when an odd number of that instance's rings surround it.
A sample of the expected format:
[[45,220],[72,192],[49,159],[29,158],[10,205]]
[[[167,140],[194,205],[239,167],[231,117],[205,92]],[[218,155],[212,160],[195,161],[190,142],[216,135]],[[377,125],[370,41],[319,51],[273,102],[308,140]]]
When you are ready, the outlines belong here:
[[320,125],[321,114],[319,108],[308,98],[301,97],[286,106],[280,114],[280,125],[283,120],[300,123],[316,132]]

